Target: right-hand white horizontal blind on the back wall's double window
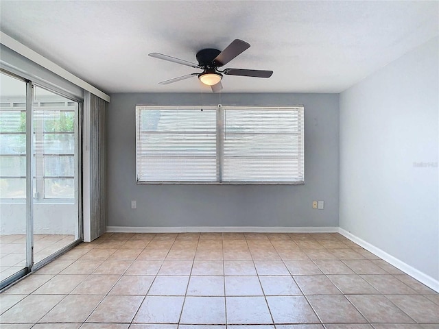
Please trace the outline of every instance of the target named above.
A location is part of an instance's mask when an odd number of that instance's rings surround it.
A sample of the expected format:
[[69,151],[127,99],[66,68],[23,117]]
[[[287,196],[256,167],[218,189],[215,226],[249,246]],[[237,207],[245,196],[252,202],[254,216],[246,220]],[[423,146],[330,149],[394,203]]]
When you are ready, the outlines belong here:
[[303,182],[303,108],[223,111],[223,182]]

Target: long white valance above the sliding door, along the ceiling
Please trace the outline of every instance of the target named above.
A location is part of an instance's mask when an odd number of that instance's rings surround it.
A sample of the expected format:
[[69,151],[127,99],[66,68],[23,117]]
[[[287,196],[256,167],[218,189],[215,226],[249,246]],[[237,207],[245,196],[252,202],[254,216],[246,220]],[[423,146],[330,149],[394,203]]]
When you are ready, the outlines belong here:
[[101,90],[93,87],[91,84],[88,84],[87,82],[80,79],[76,75],[73,75],[69,71],[62,69],[61,66],[55,64],[51,60],[48,60],[44,56],[41,56],[39,53],[26,47],[14,38],[11,38],[10,36],[8,36],[8,34],[0,32],[0,42],[2,45],[5,45],[16,53],[19,53],[21,56],[32,60],[32,62],[43,66],[45,69],[48,69],[49,71],[59,75],[60,77],[63,77],[65,80],[71,82],[72,84],[88,90],[90,93],[93,93],[97,97],[104,99],[104,101],[110,101],[110,96],[108,96],[106,93],[103,93]]

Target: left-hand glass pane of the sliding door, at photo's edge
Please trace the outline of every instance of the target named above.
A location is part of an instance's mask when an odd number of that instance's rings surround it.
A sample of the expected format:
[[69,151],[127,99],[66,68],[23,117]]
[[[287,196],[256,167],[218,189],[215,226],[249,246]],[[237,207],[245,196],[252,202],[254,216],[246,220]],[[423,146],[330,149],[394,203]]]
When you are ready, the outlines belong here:
[[30,248],[26,246],[26,83],[0,73],[0,103],[0,280],[7,282],[25,268],[26,248]]

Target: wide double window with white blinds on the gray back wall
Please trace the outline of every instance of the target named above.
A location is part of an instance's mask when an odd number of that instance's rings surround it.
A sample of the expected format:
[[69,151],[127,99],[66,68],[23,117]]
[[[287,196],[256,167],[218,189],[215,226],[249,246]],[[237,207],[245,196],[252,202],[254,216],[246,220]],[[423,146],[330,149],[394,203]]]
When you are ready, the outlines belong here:
[[136,107],[137,182],[303,183],[303,107]]

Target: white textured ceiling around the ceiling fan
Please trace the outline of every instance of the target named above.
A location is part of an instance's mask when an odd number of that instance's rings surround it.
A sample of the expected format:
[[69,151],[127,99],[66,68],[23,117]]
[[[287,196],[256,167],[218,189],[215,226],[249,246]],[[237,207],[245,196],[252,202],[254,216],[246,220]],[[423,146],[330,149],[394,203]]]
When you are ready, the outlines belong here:
[[[439,34],[439,1],[0,1],[0,29],[106,93],[200,92],[196,62],[233,39],[250,49],[225,67],[223,93],[340,93]],[[204,89],[208,90],[208,89]],[[210,90],[210,89],[209,89]]]

